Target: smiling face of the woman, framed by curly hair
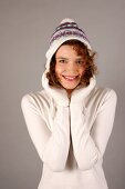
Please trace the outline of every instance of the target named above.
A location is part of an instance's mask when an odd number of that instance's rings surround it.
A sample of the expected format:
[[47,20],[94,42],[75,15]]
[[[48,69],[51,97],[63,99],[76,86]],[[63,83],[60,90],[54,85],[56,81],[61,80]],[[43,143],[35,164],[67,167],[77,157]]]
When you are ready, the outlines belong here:
[[84,56],[79,56],[72,46],[63,44],[55,53],[55,73],[61,86],[71,93],[85,72]]

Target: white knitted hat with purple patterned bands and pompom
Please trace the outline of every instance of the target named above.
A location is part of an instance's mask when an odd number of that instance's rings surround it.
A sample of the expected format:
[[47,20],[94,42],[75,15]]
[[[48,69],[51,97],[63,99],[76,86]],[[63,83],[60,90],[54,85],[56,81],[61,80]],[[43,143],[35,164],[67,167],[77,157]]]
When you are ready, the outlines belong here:
[[87,47],[87,49],[92,50],[85,32],[79,28],[77,23],[72,19],[69,18],[64,19],[61,21],[60,26],[56,27],[50,40],[50,48],[45,54],[46,56],[45,68],[48,71],[50,69],[50,61],[52,56],[55,53],[55,51],[63,42],[71,39],[76,39],[83,42]]

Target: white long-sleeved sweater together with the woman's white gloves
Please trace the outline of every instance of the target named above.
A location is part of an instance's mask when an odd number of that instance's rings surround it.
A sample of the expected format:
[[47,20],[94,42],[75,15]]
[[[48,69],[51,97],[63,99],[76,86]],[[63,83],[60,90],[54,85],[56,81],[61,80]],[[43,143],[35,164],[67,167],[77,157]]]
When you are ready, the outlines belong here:
[[30,137],[43,162],[38,189],[107,189],[103,156],[110,139],[116,93],[97,88],[95,79],[75,89],[71,100],[52,89],[23,96],[21,107]]

